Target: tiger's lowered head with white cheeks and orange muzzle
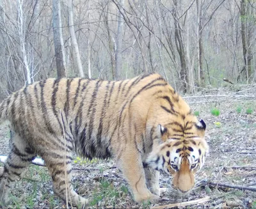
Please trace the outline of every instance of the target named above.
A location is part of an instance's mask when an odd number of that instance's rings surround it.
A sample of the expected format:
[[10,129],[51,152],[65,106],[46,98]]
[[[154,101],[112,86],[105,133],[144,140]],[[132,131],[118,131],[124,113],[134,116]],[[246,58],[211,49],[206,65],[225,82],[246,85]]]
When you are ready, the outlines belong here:
[[178,123],[158,125],[158,137],[155,137],[158,142],[154,140],[152,151],[145,160],[146,166],[171,175],[173,189],[182,195],[195,187],[195,173],[204,165],[208,151],[204,121],[186,125],[189,128],[183,130],[179,130]]

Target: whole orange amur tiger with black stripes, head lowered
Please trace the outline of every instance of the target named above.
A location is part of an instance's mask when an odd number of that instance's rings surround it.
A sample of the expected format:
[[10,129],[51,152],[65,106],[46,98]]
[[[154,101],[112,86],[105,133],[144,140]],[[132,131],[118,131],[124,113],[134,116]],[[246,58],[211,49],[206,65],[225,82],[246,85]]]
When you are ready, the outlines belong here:
[[112,157],[136,202],[157,201],[159,171],[181,194],[195,185],[208,150],[205,123],[159,74],[125,81],[46,79],[20,89],[0,104],[10,121],[10,152],[0,168],[0,202],[10,183],[36,155],[45,160],[54,192],[72,205],[87,205],[71,183],[72,153]]

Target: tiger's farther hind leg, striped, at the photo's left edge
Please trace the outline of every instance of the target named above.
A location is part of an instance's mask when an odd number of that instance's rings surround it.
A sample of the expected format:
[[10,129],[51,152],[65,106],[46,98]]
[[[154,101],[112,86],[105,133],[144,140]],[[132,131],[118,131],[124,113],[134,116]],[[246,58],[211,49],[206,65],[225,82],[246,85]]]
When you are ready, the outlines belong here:
[[9,146],[8,158],[4,167],[0,167],[0,205],[8,203],[11,183],[19,179],[35,157],[34,151],[14,132],[11,132]]

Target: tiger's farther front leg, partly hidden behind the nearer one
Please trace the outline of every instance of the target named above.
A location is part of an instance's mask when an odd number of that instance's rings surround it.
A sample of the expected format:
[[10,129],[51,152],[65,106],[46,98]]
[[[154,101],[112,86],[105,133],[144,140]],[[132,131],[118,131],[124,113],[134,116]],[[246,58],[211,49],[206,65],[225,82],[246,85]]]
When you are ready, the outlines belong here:
[[153,194],[160,196],[161,193],[166,192],[166,188],[159,187],[159,171],[152,169],[151,167],[145,167],[145,176],[147,180],[147,187]]

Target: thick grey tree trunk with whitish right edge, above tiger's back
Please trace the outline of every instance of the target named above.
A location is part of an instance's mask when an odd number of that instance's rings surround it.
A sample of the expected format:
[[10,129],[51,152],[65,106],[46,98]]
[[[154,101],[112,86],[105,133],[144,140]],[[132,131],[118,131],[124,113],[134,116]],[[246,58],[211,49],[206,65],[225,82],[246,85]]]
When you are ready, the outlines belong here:
[[54,36],[55,59],[58,77],[67,77],[65,49],[62,37],[61,0],[52,0],[52,27]]

